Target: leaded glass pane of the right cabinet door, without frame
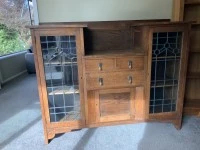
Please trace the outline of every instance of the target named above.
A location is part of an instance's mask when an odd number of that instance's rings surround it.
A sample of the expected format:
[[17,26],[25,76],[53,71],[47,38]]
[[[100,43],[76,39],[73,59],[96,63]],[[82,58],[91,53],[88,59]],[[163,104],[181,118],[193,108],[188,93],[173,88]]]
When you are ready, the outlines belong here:
[[176,111],[182,32],[153,33],[150,113]]

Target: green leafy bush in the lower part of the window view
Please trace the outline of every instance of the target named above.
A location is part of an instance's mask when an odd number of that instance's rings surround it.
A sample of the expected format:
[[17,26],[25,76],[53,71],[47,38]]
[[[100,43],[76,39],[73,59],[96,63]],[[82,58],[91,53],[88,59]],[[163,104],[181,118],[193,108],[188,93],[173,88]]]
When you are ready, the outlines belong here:
[[26,47],[27,44],[20,40],[17,31],[8,29],[4,25],[0,25],[0,56],[22,51]]

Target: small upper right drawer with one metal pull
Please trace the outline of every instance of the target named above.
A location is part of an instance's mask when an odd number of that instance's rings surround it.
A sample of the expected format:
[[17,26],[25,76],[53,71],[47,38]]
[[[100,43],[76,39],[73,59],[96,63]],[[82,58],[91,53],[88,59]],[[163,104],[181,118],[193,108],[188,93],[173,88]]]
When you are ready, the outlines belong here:
[[143,70],[144,57],[127,57],[116,59],[117,69]]

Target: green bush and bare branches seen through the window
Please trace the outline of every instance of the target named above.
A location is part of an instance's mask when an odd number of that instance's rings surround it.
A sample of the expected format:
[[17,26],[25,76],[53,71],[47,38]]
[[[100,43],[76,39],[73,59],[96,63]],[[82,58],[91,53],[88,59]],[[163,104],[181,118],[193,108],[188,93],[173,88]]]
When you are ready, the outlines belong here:
[[26,0],[0,0],[0,56],[24,50],[30,44]]

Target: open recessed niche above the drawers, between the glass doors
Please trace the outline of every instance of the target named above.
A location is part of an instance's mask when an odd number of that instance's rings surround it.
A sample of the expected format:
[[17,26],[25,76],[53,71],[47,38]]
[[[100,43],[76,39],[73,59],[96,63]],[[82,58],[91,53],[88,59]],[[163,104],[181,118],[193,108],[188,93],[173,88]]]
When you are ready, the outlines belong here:
[[85,56],[145,55],[144,27],[87,28]]

